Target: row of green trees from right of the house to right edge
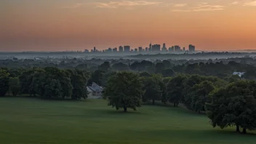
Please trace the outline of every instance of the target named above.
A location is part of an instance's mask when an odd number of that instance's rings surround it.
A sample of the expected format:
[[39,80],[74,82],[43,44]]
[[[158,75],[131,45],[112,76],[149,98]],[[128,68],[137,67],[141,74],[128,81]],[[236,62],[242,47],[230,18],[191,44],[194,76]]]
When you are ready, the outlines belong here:
[[161,75],[140,76],[119,72],[111,76],[105,87],[108,105],[119,110],[137,110],[143,102],[156,101],[177,107],[182,103],[198,113],[206,113],[213,127],[236,126],[247,133],[256,129],[256,82],[241,79],[225,81],[215,76],[180,74],[164,78]]

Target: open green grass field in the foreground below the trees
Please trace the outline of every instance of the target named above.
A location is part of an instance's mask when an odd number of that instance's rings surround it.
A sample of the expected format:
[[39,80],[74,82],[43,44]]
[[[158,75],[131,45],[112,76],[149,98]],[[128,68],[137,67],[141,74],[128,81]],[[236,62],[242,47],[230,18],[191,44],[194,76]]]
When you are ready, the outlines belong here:
[[122,113],[106,103],[0,97],[0,143],[256,143],[256,135],[213,129],[206,116],[184,108],[144,105]]

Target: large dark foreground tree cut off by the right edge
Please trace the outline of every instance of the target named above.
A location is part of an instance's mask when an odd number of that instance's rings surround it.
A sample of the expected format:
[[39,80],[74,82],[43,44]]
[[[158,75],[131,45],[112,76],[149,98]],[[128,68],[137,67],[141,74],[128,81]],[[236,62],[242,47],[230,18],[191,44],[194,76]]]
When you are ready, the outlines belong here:
[[236,81],[211,93],[212,101],[206,104],[212,126],[220,128],[236,125],[236,131],[247,133],[256,129],[256,82]]

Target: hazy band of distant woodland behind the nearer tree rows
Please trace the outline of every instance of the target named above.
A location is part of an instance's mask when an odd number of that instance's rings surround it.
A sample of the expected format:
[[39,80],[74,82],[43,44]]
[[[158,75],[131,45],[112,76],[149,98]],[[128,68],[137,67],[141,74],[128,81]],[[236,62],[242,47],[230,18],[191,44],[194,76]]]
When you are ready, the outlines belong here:
[[199,74],[201,76],[217,76],[221,79],[231,76],[233,72],[246,72],[244,79],[256,79],[256,62],[252,57],[230,58],[227,60],[125,60],[125,59],[91,59],[80,60],[0,60],[0,67],[6,68],[46,68],[55,67],[60,69],[83,70],[93,73],[105,71],[133,71],[159,73],[164,77],[174,76],[176,73]]

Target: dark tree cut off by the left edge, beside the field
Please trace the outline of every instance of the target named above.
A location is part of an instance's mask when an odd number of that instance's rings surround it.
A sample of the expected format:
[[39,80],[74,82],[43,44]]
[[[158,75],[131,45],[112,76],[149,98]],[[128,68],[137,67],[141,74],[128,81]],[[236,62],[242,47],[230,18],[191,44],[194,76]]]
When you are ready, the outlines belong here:
[[0,68],[0,97],[4,96],[9,89],[9,73],[6,70]]

